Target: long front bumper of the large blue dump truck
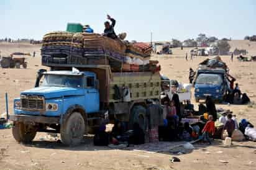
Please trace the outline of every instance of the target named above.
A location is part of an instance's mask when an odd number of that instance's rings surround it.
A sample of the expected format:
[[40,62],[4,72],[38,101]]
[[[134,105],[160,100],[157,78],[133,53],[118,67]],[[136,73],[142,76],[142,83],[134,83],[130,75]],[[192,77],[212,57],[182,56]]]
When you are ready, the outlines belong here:
[[45,117],[41,115],[9,115],[14,122],[60,124],[60,117]]

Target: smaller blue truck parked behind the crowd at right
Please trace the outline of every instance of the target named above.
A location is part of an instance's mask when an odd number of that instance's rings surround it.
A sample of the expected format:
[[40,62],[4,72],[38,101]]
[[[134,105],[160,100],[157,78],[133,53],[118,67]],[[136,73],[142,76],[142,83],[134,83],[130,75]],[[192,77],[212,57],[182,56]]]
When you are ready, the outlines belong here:
[[204,65],[199,66],[193,84],[196,102],[206,99],[207,96],[222,102],[229,89],[226,69],[209,68]]

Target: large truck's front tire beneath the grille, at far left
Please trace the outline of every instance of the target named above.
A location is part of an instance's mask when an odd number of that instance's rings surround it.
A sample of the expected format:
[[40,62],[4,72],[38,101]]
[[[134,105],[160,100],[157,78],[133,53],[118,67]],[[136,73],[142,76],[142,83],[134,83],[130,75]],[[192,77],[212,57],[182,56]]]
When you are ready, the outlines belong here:
[[22,122],[14,122],[12,136],[19,143],[30,143],[34,140],[37,130],[33,125],[25,125]]

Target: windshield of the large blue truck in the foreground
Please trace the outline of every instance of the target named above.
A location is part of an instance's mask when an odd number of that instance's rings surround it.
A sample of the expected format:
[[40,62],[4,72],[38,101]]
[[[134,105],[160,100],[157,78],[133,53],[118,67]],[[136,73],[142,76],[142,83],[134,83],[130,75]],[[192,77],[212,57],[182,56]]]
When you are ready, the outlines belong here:
[[58,86],[58,87],[83,87],[82,76],[45,74],[42,86]]

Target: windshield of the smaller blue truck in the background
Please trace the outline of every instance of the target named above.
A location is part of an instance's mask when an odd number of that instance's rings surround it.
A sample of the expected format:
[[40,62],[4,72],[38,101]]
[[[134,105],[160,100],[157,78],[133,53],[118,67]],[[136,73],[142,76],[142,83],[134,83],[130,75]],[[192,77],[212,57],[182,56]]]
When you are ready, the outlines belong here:
[[214,84],[220,85],[223,83],[221,75],[219,74],[199,74],[196,79],[196,84]]

